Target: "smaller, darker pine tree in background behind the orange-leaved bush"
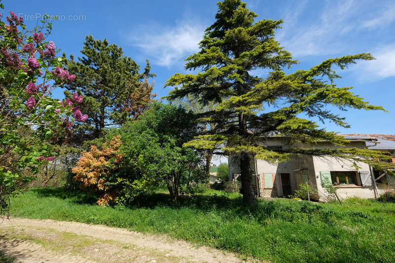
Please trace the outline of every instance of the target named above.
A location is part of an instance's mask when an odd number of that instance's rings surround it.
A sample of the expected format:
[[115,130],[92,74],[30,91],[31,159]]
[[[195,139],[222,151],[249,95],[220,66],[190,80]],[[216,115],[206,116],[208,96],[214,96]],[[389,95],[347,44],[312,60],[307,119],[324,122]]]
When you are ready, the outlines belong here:
[[70,60],[63,55],[68,71],[76,75],[72,84],[64,85],[65,96],[71,98],[74,92],[83,95],[80,111],[89,117],[77,125],[78,130],[85,138],[99,138],[105,127],[122,124],[147,109],[156,96],[147,78],[155,74],[150,73],[148,60],[140,73],[140,66],[107,39],[86,36],[81,53],[84,57],[78,58],[79,62],[73,55]]

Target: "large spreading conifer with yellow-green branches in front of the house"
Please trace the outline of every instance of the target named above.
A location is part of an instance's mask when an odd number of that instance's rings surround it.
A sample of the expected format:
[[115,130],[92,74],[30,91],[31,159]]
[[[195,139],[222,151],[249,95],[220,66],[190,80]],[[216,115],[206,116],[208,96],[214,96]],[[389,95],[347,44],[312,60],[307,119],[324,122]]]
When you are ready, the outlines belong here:
[[[377,152],[360,149],[316,150],[294,148],[295,143],[327,140],[345,145],[343,137],[319,128],[316,122],[301,116],[329,120],[349,127],[345,119],[326,106],[384,110],[354,95],[350,87],[337,87],[340,76],[333,66],[344,69],[357,60],[374,59],[369,53],[328,59],[310,70],[286,75],[297,61],[275,40],[282,20],[261,20],[240,0],[218,2],[216,21],[200,41],[200,51],[187,58],[186,70],[200,69],[198,74],[171,76],[165,86],[174,86],[168,99],[196,96],[200,103],[219,103],[205,113],[202,121],[215,123],[216,129],[186,144],[200,149],[214,149],[222,154],[239,154],[243,202],[254,204],[251,159],[284,161],[292,154],[335,155],[373,163]],[[265,77],[254,70],[270,70]],[[281,134],[288,141],[287,149],[270,149],[257,144],[268,136]],[[215,149],[216,146],[222,145]],[[362,157],[366,159],[362,159]]]

